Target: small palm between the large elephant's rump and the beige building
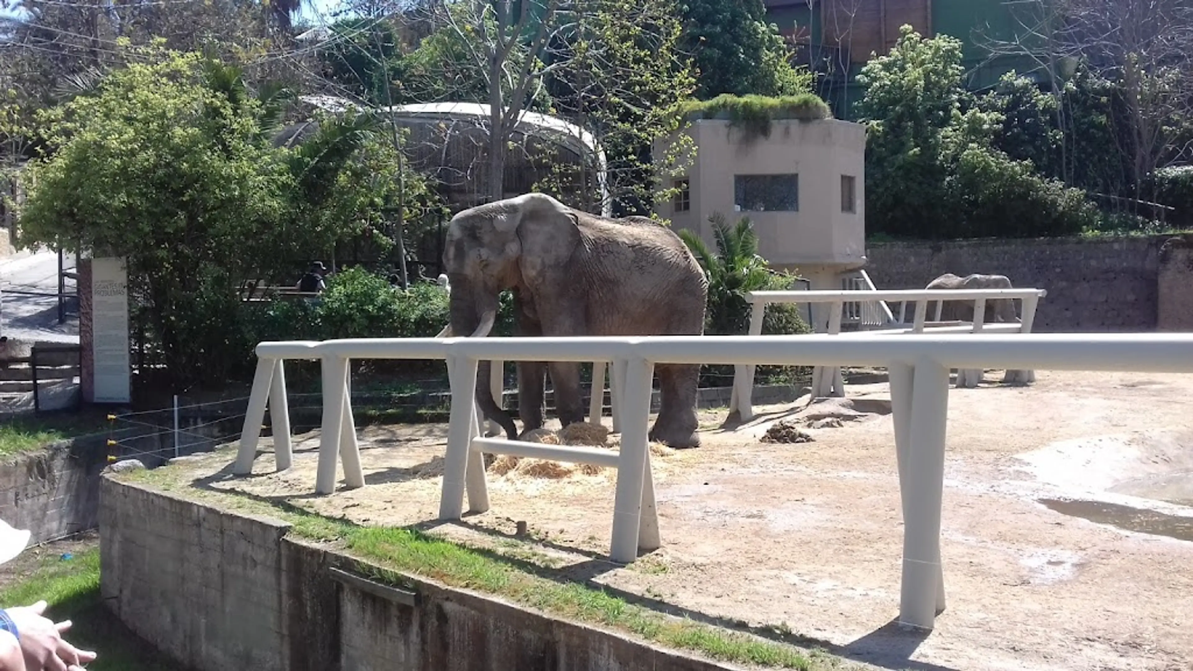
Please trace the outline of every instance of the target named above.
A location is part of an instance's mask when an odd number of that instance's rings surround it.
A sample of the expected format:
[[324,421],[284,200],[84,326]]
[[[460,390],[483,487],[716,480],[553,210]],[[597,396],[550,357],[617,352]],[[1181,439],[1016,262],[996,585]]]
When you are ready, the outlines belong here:
[[747,291],[765,289],[771,282],[766,259],[758,253],[758,234],[749,217],[741,217],[731,228],[721,213],[709,217],[712,223],[713,254],[692,230],[679,232],[709,278],[709,308],[705,333],[743,336],[749,332],[750,306]]

